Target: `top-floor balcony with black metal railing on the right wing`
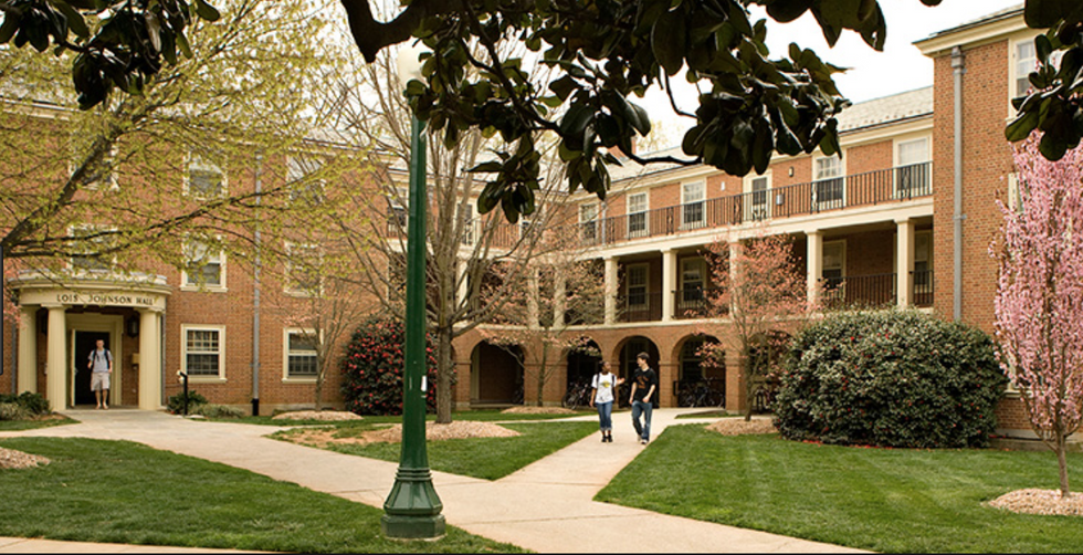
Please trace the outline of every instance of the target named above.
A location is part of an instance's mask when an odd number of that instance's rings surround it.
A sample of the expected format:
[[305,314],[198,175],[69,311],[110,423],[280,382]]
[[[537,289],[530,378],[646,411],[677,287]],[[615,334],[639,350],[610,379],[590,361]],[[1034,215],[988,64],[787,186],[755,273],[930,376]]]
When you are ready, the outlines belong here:
[[585,244],[609,245],[702,229],[902,202],[933,195],[933,163],[614,216],[580,224]]

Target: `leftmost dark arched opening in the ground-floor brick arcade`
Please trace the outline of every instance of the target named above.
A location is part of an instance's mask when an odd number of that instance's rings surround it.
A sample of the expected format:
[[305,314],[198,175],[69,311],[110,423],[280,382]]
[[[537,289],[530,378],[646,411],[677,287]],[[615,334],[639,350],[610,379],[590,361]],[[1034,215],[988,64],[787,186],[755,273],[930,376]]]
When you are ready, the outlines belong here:
[[523,404],[523,349],[479,343],[471,354],[472,405]]

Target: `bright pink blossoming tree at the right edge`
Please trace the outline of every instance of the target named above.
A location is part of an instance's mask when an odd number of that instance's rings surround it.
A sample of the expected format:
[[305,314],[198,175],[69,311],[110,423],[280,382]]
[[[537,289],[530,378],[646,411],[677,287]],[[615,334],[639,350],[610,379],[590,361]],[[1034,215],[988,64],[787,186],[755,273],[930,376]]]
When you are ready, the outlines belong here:
[[1031,137],[1014,151],[1021,202],[998,202],[995,326],[1001,367],[1034,432],[1056,453],[1066,498],[1066,440],[1083,415],[1083,147],[1059,161],[1038,148]]

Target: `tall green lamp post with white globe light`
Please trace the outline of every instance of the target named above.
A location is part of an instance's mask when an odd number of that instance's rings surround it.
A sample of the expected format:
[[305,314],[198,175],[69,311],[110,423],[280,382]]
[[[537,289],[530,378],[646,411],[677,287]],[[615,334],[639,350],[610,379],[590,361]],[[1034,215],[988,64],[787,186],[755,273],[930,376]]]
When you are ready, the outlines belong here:
[[[399,80],[421,77],[419,50],[399,52]],[[432,486],[425,451],[425,140],[411,115],[410,207],[407,219],[406,368],[402,376],[402,453],[395,485],[383,502],[380,527],[388,537],[444,535],[443,503]]]

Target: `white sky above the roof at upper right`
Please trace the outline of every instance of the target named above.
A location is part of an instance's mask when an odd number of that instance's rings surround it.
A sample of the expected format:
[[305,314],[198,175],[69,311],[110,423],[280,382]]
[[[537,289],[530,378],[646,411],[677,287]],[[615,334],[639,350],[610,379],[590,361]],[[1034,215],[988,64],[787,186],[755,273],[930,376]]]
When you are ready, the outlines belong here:
[[[768,20],[767,44],[772,56],[785,53],[790,42],[812,49],[821,60],[841,67],[850,67],[845,74],[835,75],[834,81],[843,96],[853,102],[863,102],[895,93],[912,91],[933,84],[933,61],[922,55],[914,41],[980,19],[984,15],[1006,8],[1022,6],[1022,0],[943,0],[939,6],[928,8],[921,0],[880,0],[887,21],[887,42],[883,52],[876,52],[852,31],[843,33],[834,48],[829,48],[823,33],[811,13],[791,23],[777,23]],[[764,18],[754,12],[754,19]],[[683,84],[683,78],[675,77]],[[694,111],[695,94],[688,86],[681,96],[682,107]],[[643,100],[644,107],[653,119],[677,122],[667,116],[672,113],[669,101],[660,91],[652,91]],[[663,123],[666,135],[680,135],[677,129],[688,124]]]

